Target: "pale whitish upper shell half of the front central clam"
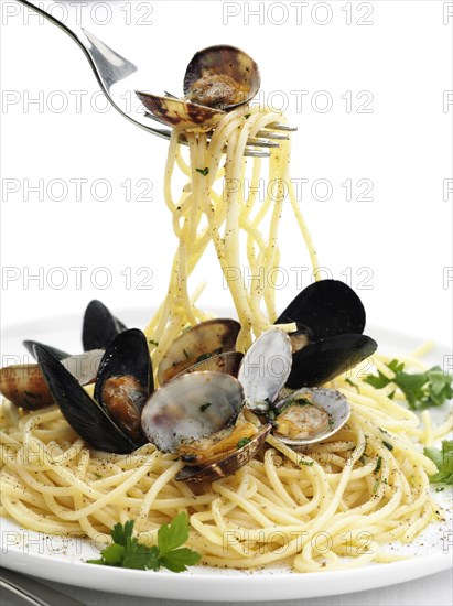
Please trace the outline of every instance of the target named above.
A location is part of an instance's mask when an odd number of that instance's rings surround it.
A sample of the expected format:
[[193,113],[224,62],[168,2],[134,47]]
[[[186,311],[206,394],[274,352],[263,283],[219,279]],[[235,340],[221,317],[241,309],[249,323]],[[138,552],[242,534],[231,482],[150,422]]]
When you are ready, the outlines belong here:
[[224,372],[180,375],[159,388],[144,404],[141,424],[148,440],[164,453],[233,425],[244,391]]

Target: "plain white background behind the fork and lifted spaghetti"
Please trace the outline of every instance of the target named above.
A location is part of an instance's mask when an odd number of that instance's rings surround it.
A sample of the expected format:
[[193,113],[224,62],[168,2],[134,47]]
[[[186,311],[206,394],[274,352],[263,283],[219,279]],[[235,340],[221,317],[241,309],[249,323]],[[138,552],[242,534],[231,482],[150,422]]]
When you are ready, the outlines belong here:
[[[55,17],[64,15],[55,4],[73,4],[74,17],[77,2],[43,4],[52,4]],[[78,4],[88,30],[143,67],[145,77],[134,86],[144,89],[180,93],[185,65],[204,46],[227,43],[250,53],[260,65],[263,98],[276,106],[288,99],[290,121],[299,127],[292,175],[309,180],[301,206],[321,264],[337,279],[350,272],[369,324],[451,346],[453,194],[444,190],[452,178],[453,105],[445,104],[453,89],[453,17],[445,17],[452,2],[118,0],[108,3],[111,14],[106,2]],[[1,9],[2,326],[82,317],[94,297],[125,310],[126,321],[127,309],[151,313],[165,293],[176,246],[161,193],[166,144],[103,111],[88,64],[61,31],[13,0],[2,0]],[[250,13],[256,10],[261,17]],[[294,90],[306,91],[302,108]],[[321,111],[326,97],[319,91],[332,99],[328,111]],[[347,91],[350,108],[342,98]],[[359,112],[362,108],[368,112]],[[79,201],[74,180],[88,180]],[[100,182],[90,193],[97,180],[111,187],[106,202],[98,199]],[[121,185],[127,180],[130,201]],[[324,195],[321,185],[313,196],[316,180],[331,184],[328,201],[315,199]],[[341,185],[347,180],[352,201]],[[357,199],[359,180],[373,183],[371,201]],[[30,186],[44,188],[44,199],[26,193]],[[137,199],[151,186],[152,201]],[[289,282],[279,292],[281,305],[298,290],[290,268],[309,266],[296,234],[288,208],[281,264]],[[211,253],[203,267],[207,309],[229,304]],[[111,277],[105,290],[95,283],[105,275],[100,267]],[[79,284],[71,268],[87,268]],[[137,275],[140,268],[148,269]],[[147,275],[152,290],[138,288]],[[62,277],[67,284],[58,288]],[[306,271],[303,277],[306,285]]]

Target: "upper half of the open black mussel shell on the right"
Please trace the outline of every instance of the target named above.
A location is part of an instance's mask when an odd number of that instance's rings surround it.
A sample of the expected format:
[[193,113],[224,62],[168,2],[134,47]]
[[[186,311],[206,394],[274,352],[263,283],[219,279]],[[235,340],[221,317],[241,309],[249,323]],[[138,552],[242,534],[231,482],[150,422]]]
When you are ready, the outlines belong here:
[[343,333],[360,334],[365,328],[365,307],[344,282],[320,280],[300,292],[276,324],[290,322],[308,327],[312,340]]

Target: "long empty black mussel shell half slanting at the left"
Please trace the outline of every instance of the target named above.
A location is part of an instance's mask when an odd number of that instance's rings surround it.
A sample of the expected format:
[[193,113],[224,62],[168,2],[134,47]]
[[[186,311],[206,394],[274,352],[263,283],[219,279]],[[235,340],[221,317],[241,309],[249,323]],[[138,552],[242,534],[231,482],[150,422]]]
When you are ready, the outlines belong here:
[[100,451],[126,454],[134,444],[90,398],[61,361],[43,345],[35,345],[35,356],[48,389],[63,416],[88,444]]

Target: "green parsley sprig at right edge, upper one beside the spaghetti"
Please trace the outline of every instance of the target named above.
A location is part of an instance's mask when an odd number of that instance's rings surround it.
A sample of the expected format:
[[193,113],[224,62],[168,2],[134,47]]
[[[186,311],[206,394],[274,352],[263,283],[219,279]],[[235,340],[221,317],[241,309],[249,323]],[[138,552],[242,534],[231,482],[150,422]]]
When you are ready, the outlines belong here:
[[440,407],[453,397],[452,376],[444,374],[440,366],[433,366],[425,372],[411,374],[405,372],[405,364],[398,360],[391,360],[387,366],[395,372],[393,379],[378,372],[377,376],[367,375],[365,382],[376,389],[395,383],[405,393],[412,410]]

